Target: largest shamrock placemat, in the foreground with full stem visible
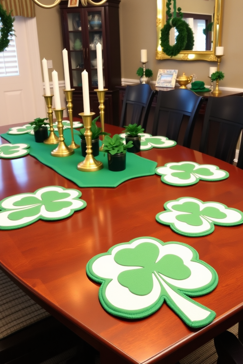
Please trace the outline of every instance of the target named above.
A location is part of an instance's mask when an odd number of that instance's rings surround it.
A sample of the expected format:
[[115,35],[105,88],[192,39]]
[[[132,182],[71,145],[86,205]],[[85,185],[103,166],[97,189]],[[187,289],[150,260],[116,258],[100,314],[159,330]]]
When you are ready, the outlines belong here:
[[216,314],[188,296],[212,292],[216,271],[199,260],[187,244],[140,237],[114,245],[87,266],[88,276],[101,283],[99,301],[118,317],[138,319],[156,312],[164,300],[190,327],[208,325]]

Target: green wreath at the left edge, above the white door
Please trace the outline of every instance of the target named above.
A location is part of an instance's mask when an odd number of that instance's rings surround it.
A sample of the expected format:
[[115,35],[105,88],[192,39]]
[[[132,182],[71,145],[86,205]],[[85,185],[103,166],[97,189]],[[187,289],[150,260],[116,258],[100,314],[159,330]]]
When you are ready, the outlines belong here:
[[2,27],[0,29],[0,52],[3,52],[9,45],[9,35],[14,35],[13,22],[15,18],[12,18],[11,12],[7,14],[7,11],[3,9],[0,4],[0,21]]

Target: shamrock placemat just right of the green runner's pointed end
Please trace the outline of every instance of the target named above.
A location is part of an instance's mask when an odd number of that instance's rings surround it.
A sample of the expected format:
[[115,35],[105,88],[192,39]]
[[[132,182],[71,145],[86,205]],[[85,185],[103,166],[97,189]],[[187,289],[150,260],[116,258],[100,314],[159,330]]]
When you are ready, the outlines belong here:
[[229,177],[227,171],[211,164],[195,162],[166,163],[157,167],[156,174],[161,175],[161,181],[172,186],[190,186],[203,181],[220,181]]

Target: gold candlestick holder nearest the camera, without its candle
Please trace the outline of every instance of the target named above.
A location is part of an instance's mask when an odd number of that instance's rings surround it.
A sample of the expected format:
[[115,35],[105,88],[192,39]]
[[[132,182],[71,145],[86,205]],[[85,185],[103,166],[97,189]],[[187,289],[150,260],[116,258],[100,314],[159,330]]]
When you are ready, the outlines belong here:
[[81,112],[79,115],[82,116],[83,124],[85,126],[85,140],[86,140],[86,157],[85,160],[78,163],[78,170],[83,172],[95,172],[103,168],[103,163],[97,161],[92,154],[92,132],[90,131],[92,116],[95,115],[91,112],[89,115],[85,115]]

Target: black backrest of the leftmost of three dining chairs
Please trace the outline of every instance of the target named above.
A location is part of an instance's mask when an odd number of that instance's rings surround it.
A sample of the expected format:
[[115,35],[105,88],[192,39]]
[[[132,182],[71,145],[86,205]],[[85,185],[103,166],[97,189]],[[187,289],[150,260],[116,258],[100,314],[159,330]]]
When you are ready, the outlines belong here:
[[148,122],[149,110],[157,91],[153,91],[148,84],[127,86],[122,104],[120,126],[127,125],[126,113],[128,104],[132,104],[132,118],[130,124],[141,125],[145,130]]

